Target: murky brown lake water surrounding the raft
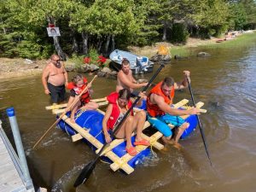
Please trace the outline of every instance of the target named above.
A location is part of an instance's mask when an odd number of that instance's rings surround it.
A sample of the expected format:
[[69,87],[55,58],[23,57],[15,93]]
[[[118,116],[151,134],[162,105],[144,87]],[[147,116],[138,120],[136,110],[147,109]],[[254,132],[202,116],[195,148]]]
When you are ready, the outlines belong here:
[[[208,49],[212,57],[192,57],[172,61],[155,82],[166,76],[177,81],[182,71],[191,71],[195,102],[205,103],[201,122],[214,165],[209,165],[200,131],[182,141],[183,149],[168,146],[154,149],[152,158],[137,166],[129,176],[111,172],[108,164],[98,162],[86,185],[76,191],[253,191],[256,183],[256,44],[241,49]],[[157,70],[159,66],[155,66]],[[143,77],[149,79],[152,74]],[[69,74],[70,77],[73,74]],[[91,76],[86,75],[90,80]],[[93,83],[94,97],[107,96],[115,80],[98,78]],[[189,99],[189,91],[178,91],[176,102]],[[5,80],[0,84],[0,111],[14,106],[35,182],[52,191],[75,191],[73,181],[79,170],[95,155],[84,143],[72,143],[67,134],[53,130],[37,150],[33,144],[55,121],[45,110],[49,97],[44,95],[40,77]],[[4,119],[5,120],[5,119]],[[5,123],[5,122],[4,122]],[[4,125],[9,132],[9,126]]]

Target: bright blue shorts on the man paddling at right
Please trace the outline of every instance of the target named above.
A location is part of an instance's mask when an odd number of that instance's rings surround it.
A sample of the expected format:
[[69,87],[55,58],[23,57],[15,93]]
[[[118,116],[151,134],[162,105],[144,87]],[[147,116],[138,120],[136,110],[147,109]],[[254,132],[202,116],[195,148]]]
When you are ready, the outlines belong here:
[[148,122],[158,131],[160,131],[165,137],[170,137],[172,136],[172,130],[167,124],[172,124],[178,127],[180,125],[183,125],[185,121],[179,116],[165,114],[162,116],[157,116],[155,118],[148,115]]

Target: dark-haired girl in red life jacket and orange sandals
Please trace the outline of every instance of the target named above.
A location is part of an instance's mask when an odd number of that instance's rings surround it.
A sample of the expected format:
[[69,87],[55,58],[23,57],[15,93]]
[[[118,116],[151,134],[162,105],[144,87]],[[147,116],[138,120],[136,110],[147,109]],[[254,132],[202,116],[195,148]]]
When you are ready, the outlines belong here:
[[[140,93],[141,98],[144,94]],[[111,131],[119,124],[120,120],[125,116],[125,113],[131,108],[131,91],[128,89],[119,90],[119,93],[113,92],[107,96],[109,102],[104,119],[102,120],[102,129],[107,143],[112,141],[110,137]],[[141,102],[141,101],[140,101]],[[141,105],[141,103],[137,103]],[[115,138],[126,138],[126,152],[131,156],[137,154],[137,150],[131,143],[131,134],[137,129],[137,136],[134,145],[149,146],[150,143],[141,137],[143,126],[146,120],[145,111],[139,111],[136,114],[131,111],[131,114],[125,119],[124,123],[119,128],[119,131],[115,133]]]

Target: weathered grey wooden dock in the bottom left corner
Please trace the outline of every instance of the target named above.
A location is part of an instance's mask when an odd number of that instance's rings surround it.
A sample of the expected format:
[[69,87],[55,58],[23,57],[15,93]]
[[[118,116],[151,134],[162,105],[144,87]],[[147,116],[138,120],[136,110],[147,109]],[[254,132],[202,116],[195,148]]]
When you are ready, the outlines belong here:
[[26,192],[35,191],[27,189],[21,172],[20,162],[14,148],[9,143],[0,120],[0,191],[1,192]]

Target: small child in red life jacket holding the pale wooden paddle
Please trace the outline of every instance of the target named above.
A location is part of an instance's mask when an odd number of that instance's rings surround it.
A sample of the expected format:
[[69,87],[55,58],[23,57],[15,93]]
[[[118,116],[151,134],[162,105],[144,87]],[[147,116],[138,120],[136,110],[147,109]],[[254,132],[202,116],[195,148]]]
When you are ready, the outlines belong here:
[[[87,88],[86,88],[87,87]],[[72,105],[74,99],[79,96],[79,94],[87,89],[82,96],[80,96],[79,101],[74,104],[73,108],[71,108],[70,121],[75,123],[74,114],[77,109],[81,107],[82,110],[95,110],[98,108],[98,104],[96,102],[90,101],[90,95],[93,90],[91,90],[91,84],[88,84],[86,78],[84,78],[81,74],[76,74],[73,76],[72,82],[67,84],[67,89],[70,90],[70,97],[67,102],[67,108]]]

